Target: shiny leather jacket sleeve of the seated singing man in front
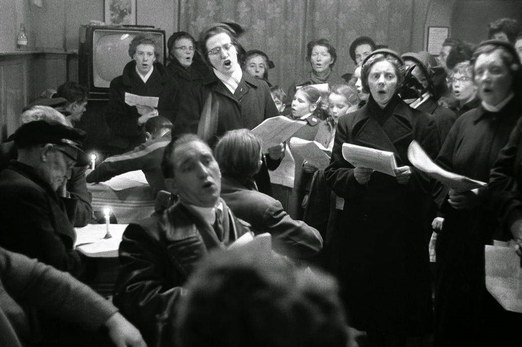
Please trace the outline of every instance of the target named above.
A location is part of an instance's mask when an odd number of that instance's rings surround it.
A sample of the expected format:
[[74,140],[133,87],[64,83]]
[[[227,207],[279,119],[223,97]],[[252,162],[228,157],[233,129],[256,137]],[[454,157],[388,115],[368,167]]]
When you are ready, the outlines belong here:
[[139,224],[127,226],[119,254],[113,302],[150,343],[158,339],[161,322],[170,321],[172,305],[182,294],[181,280],[168,282],[175,270],[159,241]]

